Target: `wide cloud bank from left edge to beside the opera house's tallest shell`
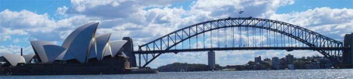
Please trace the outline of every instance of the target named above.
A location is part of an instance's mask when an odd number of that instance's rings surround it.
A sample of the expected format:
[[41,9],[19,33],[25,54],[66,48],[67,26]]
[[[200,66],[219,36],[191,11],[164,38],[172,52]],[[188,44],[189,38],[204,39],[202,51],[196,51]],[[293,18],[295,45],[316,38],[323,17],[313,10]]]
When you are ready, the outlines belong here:
[[37,14],[28,10],[11,11],[5,9],[0,12],[0,38],[5,41],[14,35],[21,35],[28,37],[27,41],[38,39],[61,41],[66,38],[63,36],[68,33],[65,31],[72,31],[84,23],[94,21],[94,18],[85,19],[85,16],[77,15],[54,20],[47,13]]

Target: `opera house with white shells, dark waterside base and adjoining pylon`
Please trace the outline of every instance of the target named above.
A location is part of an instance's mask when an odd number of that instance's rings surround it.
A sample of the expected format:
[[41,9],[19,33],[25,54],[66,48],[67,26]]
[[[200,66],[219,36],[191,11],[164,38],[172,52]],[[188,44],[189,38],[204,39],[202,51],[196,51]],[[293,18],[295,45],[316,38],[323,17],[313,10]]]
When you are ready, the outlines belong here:
[[111,33],[96,35],[99,22],[90,22],[75,29],[63,42],[30,41],[34,53],[2,53],[1,75],[119,74],[156,73],[155,70],[134,70],[136,59],[130,37],[110,41]]

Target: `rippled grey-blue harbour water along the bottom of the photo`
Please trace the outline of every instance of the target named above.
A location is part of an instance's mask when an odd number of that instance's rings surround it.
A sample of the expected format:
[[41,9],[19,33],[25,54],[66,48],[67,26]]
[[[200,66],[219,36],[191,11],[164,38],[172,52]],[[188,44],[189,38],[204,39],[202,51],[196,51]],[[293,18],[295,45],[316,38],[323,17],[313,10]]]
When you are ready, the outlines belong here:
[[25,75],[0,76],[0,78],[353,78],[353,69],[296,69],[159,72],[157,74],[108,74],[108,75]]

